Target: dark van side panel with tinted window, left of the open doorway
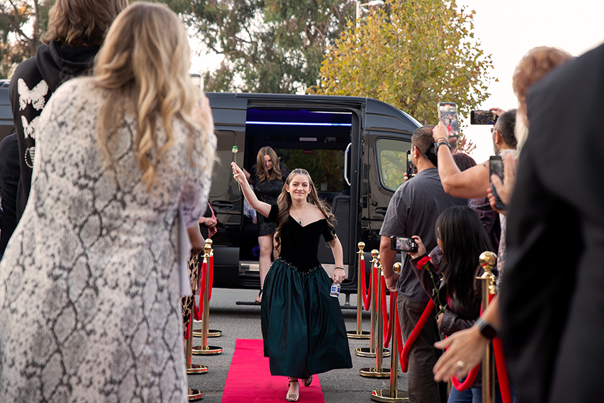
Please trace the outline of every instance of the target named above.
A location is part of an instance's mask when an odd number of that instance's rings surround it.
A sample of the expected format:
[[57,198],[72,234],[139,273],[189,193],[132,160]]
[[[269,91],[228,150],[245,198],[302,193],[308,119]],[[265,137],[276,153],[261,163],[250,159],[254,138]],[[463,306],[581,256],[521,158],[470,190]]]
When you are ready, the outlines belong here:
[[239,246],[243,194],[231,175],[233,145],[238,147],[237,163],[245,152],[245,113],[247,99],[236,94],[208,94],[212,107],[216,156],[209,201],[216,212],[218,232],[212,237],[214,249],[214,286],[240,288]]

